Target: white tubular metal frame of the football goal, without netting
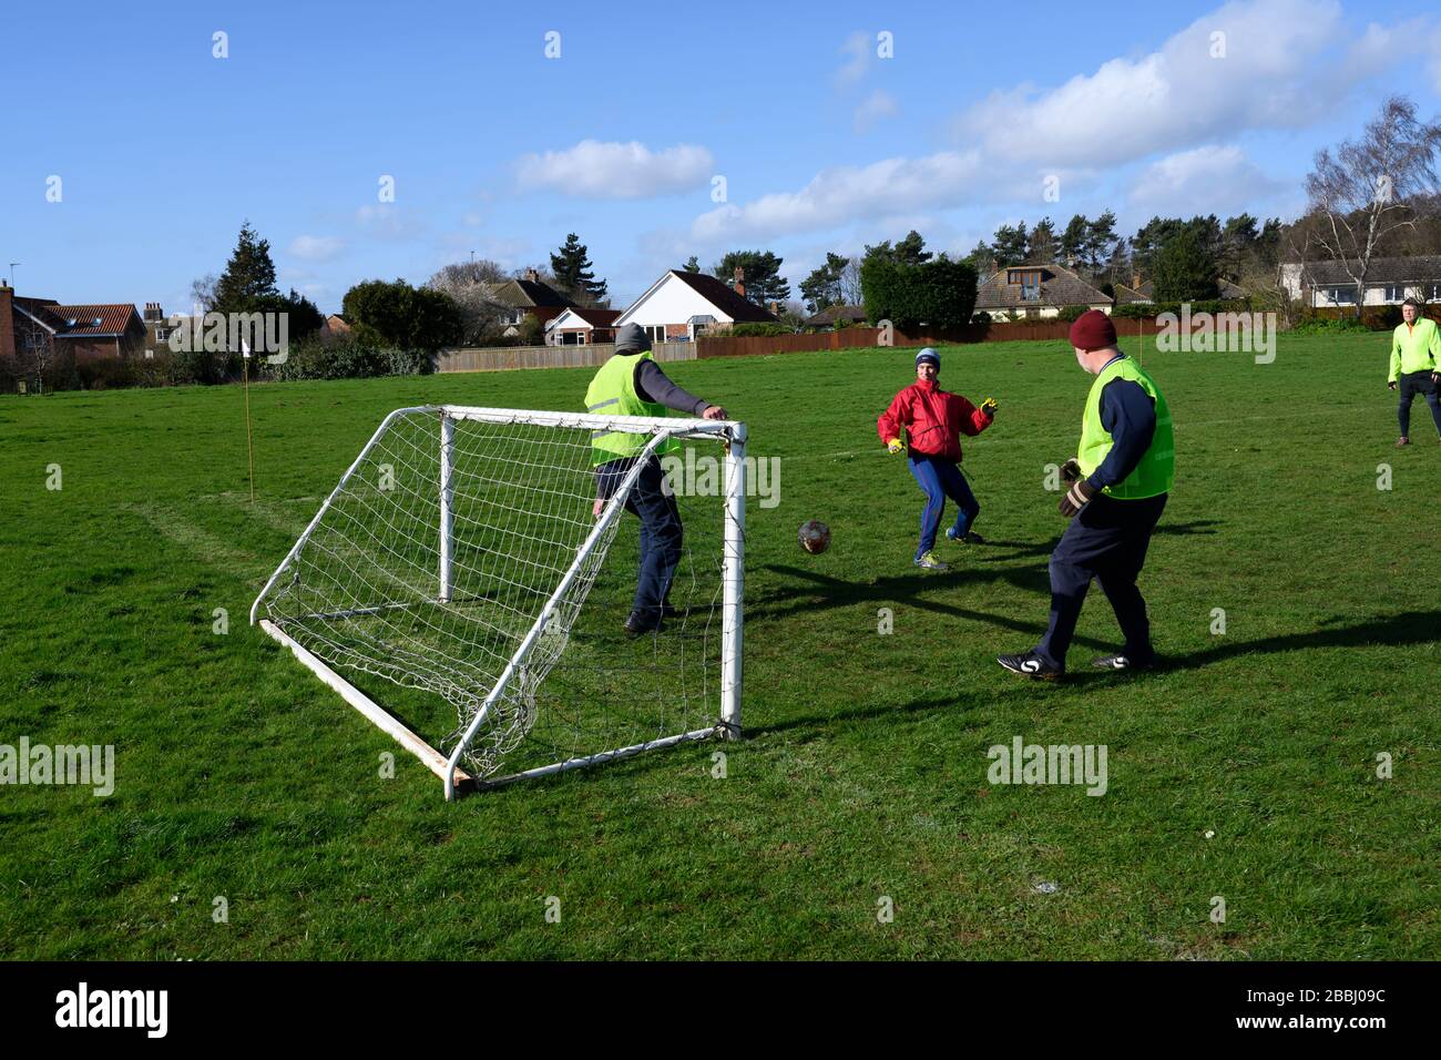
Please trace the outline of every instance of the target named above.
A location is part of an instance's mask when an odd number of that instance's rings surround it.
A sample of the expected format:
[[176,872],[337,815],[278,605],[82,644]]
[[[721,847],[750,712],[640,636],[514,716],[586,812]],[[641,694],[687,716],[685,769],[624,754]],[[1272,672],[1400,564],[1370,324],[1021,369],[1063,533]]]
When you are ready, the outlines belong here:
[[[514,655],[510,658],[506,669],[501,672],[500,679],[496,682],[494,688],[490,689],[484,704],[471,718],[465,728],[463,738],[457,743],[455,750],[447,757],[438,748],[428,744],[416,733],[411,731],[399,718],[386,711],[370,697],[356,688],[350,681],[337,673],[330,665],[323,659],[317,658],[304,645],[294,640],[287,635],[280,626],[271,622],[268,617],[262,617],[261,606],[265,601],[267,594],[280,581],[281,575],[291,568],[295,557],[300,555],[310,535],[314,532],[316,526],[320,525],[321,518],[330,509],[331,503],[346,487],[346,483],[356,473],[356,470],[365,463],[366,456],[375,449],[376,443],[385,436],[391,424],[398,418],[405,415],[424,415],[432,414],[438,415],[441,421],[441,438],[440,438],[440,482],[437,482],[437,489],[440,490],[440,525],[437,526],[438,535],[438,552],[440,552],[440,570],[437,571],[435,581],[435,601],[445,603],[451,594],[451,554],[452,554],[452,535],[454,535],[454,519],[451,512],[451,499],[454,486],[451,482],[451,447],[454,428],[458,421],[476,420],[480,423],[490,424],[530,424],[536,427],[561,427],[572,430],[585,431],[617,431],[628,434],[647,434],[651,436],[644,454],[654,453],[654,450],[664,443],[667,438],[712,438],[723,443],[725,446],[725,489],[722,498],[722,519],[723,519],[723,539],[722,539],[722,620],[720,620],[720,717],[716,724],[709,728],[699,728],[689,733],[677,733],[674,736],[661,737],[657,740],[648,740],[641,744],[633,744],[630,747],[620,747],[615,750],[599,751],[597,754],[586,754],[584,757],[568,759],[565,761],[556,761],[549,766],[540,766],[537,769],[529,769],[522,773],[513,773],[509,776],[497,779],[480,780],[471,777],[465,770],[460,767],[460,759],[464,754],[467,746],[474,738],[476,733],[486,723],[487,715],[493,704],[504,694],[506,686],[510,684],[512,676],[526,655],[529,653],[532,645],[546,629],[546,623],[555,613],[556,604],[563,597],[566,588],[575,580],[579,573],[585,558],[592,551],[597,541],[602,541],[608,532],[611,524],[621,516],[624,511],[624,502],[631,487],[634,486],[637,477],[640,476],[643,460],[635,460],[630,473],[625,476],[620,489],[611,496],[605,503],[599,519],[597,519],[595,526],[591,528],[589,535],[581,548],[576,549],[575,557],[571,561],[565,575],[556,584],[550,599],[540,609],[536,616],[535,623],[530,626],[529,633],[525,636]],[[251,604],[251,624],[259,626],[265,633],[285,645],[294,656],[304,663],[310,671],[316,673],[323,682],[340,694],[340,697],[354,707],[360,714],[363,714],[370,723],[378,725],[385,733],[389,733],[405,750],[411,751],[416,759],[419,759],[427,769],[440,776],[445,785],[445,799],[451,800],[457,793],[463,790],[480,790],[487,787],[499,787],[500,785],[512,783],[514,780],[523,780],[529,777],[548,776],[553,773],[561,773],[563,770],[579,769],[584,766],[594,766],[604,761],[612,761],[617,759],[631,757],[640,754],[641,751],[657,750],[661,747],[672,747],[679,743],[686,743],[690,740],[705,740],[713,736],[723,736],[728,740],[738,740],[741,737],[741,695],[742,695],[742,649],[744,649],[744,597],[745,597],[745,490],[746,490],[746,467],[745,467],[745,438],[746,430],[745,424],[735,420],[683,420],[683,418],[669,418],[669,417],[627,417],[627,415],[595,415],[589,412],[543,412],[522,408],[474,408],[468,405],[412,405],[408,408],[398,408],[392,411],[380,425],[376,428],[375,434],[360,450],[359,456],[352,461],[346,473],[340,476],[340,482],[321,503],[320,511],[316,512],[314,518],[305,526],[305,531],[295,541],[294,547],[281,561],[275,573],[269,575],[264,588],[261,588],[259,596],[255,597],[255,603]],[[343,617],[344,614],[353,614],[359,611],[339,613],[327,617]],[[316,617],[316,616],[303,616]]]

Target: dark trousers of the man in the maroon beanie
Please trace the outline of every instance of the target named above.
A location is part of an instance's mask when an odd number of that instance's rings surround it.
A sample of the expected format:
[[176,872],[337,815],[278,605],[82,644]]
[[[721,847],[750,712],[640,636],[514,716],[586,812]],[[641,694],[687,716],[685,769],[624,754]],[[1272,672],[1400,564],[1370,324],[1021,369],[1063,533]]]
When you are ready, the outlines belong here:
[[1065,668],[1081,606],[1091,580],[1097,578],[1125,636],[1121,653],[1133,661],[1154,658],[1146,600],[1136,578],[1146,564],[1146,549],[1166,508],[1166,496],[1112,500],[1101,493],[1071,521],[1050,554],[1050,627],[1036,646],[1036,655]]

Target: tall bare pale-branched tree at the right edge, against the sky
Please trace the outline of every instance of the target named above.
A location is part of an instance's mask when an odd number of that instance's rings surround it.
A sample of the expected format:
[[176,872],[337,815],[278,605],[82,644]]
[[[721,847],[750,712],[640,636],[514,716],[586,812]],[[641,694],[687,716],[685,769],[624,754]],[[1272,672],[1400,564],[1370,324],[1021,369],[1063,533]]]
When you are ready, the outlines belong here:
[[1418,121],[1415,104],[1393,95],[1360,140],[1346,140],[1334,154],[1326,147],[1316,153],[1306,179],[1316,221],[1310,238],[1356,284],[1356,316],[1378,247],[1414,228],[1418,208],[1434,202],[1438,150],[1441,123]]

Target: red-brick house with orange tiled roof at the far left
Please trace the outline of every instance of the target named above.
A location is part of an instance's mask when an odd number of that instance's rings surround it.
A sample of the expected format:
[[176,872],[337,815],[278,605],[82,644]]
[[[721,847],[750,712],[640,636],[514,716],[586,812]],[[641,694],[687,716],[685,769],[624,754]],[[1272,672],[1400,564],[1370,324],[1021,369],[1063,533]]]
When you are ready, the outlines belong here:
[[20,297],[0,283],[0,356],[53,356],[66,363],[141,356],[147,335],[131,304],[62,306]]

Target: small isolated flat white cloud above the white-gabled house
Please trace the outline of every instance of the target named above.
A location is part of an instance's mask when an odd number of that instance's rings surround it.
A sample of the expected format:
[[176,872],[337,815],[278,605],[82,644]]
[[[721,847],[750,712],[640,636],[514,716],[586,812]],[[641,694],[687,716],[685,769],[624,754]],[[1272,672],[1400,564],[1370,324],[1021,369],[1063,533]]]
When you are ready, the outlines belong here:
[[516,160],[526,190],[549,189],[582,199],[648,199],[697,187],[710,179],[715,159],[705,147],[582,140],[575,147]]

